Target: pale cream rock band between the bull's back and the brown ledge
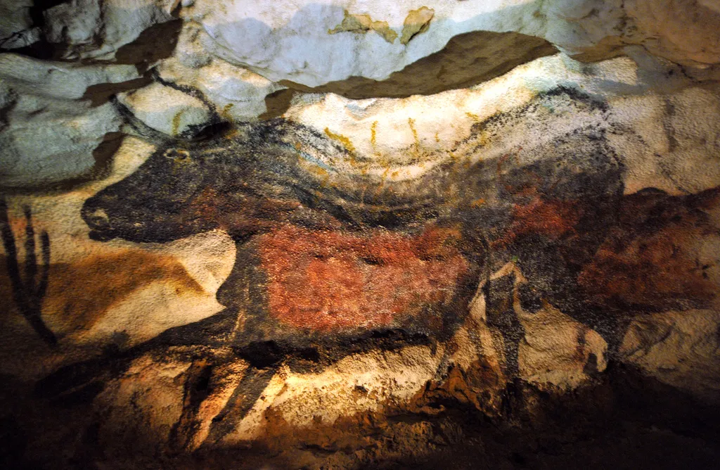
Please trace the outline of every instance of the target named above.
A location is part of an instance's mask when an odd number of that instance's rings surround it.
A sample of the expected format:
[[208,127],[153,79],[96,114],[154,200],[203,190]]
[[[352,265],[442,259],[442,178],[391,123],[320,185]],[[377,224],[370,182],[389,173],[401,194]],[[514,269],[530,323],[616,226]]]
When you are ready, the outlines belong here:
[[[694,86],[676,73],[669,74],[676,71],[669,63],[647,56],[636,60],[644,61],[644,70],[629,58],[593,66],[562,55],[539,58],[471,89],[404,99],[308,94],[296,97],[285,116],[336,136],[365,156],[364,174],[378,178],[384,177],[388,166],[392,179],[417,177],[456,157],[490,159],[516,148],[539,146],[573,129],[599,126],[607,130],[608,142],[624,160],[627,193],[648,186],[672,194],[715,187],[720,180],[715,157],[720,145],[716,130],[720,88]],[[579,112],[572,102],[558,98],[552,112],[544,108],[528,112],[508,123],[502,135],[482,141],[482,151],[466,154],[463,147],[454,147],[469,138],[472,125],[569,84],[607,102],[608,111]],[[348,162],[335,165],[354,171]]]

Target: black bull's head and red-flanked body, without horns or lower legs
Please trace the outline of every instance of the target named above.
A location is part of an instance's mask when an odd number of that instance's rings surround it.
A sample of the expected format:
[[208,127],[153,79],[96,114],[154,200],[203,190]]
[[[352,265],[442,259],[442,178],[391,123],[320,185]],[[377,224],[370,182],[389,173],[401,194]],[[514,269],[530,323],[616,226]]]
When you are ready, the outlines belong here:
[[[559,89],[531,106],[564,95],[575,99]],[[603,112],[576,101],[584,112]],[[501,132],[508,119],[476,132]],[[576,129],[490,159],[477,157],[479,141],[458,143],[454,153],[464,158],[440,160],[420,177],[385,179],[305,126],[241,125],[210,141],[158,148],[87,200],[82,215],[98,240],[162,242],[210,229],[233,236],[238,257],[217,292],[228,309],[205,322],[213,329],[198,329],[212,331],[199,342],[232,337],[236,347],[289,352],[390,332],[444,340],[464,319],[481,273],[510,253],[540,291],[553,291],[563,306],[575,301],[572,263],[592,255],[594,232],[622,194],[621,164],[600,130]],[[568,239],[572,254],[559,251]],[[197,336],[190,325],[181,331],[180,341]]]

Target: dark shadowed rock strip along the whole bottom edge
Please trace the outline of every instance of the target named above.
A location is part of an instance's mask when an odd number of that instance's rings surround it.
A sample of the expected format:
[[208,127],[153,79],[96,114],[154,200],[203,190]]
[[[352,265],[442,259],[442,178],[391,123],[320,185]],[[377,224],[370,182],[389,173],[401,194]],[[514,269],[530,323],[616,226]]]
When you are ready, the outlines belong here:
[[[508,384],[503,414],[496,417],[446,399],[434,404],[441,410],[436,414],[369,414],[358,418],[360,425],[312,426],[285,440],[274,440],[271,431],[267,440],[253,444],[207,445],[192,453],[141,451],[138,443],[122,451],[116,447],[112,458],[96,438],[99,417],[82,418],[85,429],[78,435],[84,438],[73,451],[63,448],[63,456],[60,449],[48,449],[46,456],[31,456],[23,449],[37,429],[27,427],[26,417],[6,412],[0,417],[0,435],[6,437],[0,458],[12,465],[7,468],[42,469],[319,469],[336,468],[338,456],[356,462],[341,468],[382,470],[716,468],[718,407],[628,365],[613,363],[596,380],[562,395],[515,381]],[[204,393],[206,382],[207,370],[199,368],[189,401]],[[87,409],[39,406],[48,422]],[[222,420],[213,425],[221,426]],[[426,433],[413,440],[407,430],[418,426]]]

